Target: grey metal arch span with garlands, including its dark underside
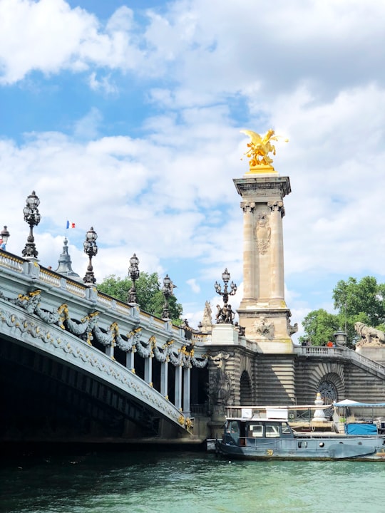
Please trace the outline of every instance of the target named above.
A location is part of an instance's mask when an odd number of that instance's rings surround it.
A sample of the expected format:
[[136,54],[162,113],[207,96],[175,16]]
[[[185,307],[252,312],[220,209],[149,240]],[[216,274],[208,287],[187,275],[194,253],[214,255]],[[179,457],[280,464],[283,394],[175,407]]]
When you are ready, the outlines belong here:
[[0,251],[0,338],[2,440],[201,441],[205,336]]

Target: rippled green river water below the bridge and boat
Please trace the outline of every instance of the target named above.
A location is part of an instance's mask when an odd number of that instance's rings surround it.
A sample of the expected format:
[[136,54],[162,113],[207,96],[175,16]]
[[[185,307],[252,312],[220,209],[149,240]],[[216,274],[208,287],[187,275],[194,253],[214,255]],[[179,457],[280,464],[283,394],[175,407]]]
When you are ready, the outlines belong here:
[[385,512],[385,462],[73,450],[7,459],[0,486],[7,513]]

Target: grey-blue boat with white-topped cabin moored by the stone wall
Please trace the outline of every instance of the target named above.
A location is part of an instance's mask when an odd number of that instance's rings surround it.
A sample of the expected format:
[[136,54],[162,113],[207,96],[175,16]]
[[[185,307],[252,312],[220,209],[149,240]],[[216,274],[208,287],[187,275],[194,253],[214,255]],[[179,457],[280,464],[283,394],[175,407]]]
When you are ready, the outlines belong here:
[[[227,408],[217,452],[250,460],[377,460],[385,462],[385,435],[349,435],[334,431],[296,432],[289,423],[294,407]],[[314,409],[313,405],[295,407]],[[319,409],[319,406],[317,407]],[[324,408],[327,408],[326,406]],[[374,425],[375,426],[375,425]]]

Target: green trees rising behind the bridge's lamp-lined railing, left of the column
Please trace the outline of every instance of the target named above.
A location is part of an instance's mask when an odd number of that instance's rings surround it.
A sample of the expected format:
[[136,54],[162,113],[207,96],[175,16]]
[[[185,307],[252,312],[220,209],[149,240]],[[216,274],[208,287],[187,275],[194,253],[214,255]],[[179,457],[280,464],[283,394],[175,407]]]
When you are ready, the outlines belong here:
[[[133,282],[128,276],[122,279],[120,276],[111,274],[106,276],[103,282],[98,285],[98,290],[126,303],[132,286]],[[149,274],[142,271],[139,278],[135,281],[135,289],[140,308],[148,312],[148,314],[161,317],[165,297],[160,288],[158,273]],[[180,316],[183,314],[183,308],[174,295],[169,297],[168,306],[173,323],[177,325],[182,323]]]

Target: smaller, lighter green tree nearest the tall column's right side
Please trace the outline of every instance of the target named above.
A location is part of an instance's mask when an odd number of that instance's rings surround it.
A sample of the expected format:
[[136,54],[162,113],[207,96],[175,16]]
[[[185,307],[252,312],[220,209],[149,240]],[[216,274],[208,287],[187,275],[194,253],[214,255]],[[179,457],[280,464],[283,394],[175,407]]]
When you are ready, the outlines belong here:
[[339,316],[329,314],[324,309],[313,310],[302,321],[304,335],[299,342],[309,341],[312,346],[323,346],[324,343],[334,341],[334,333],[339,328]]

